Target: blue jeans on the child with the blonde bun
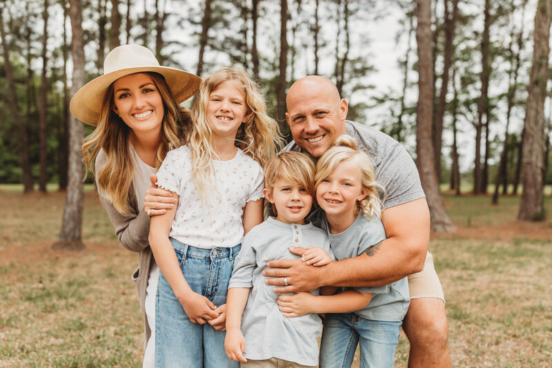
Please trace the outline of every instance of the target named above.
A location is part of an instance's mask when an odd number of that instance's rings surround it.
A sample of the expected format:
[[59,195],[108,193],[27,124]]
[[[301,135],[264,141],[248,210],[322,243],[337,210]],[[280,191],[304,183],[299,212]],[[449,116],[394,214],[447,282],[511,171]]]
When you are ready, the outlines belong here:
[[360,341],[361,368],[393,368],[402,322],[367,320],[355,313],[328,313],[320,343],[320,368],[351,367]]

